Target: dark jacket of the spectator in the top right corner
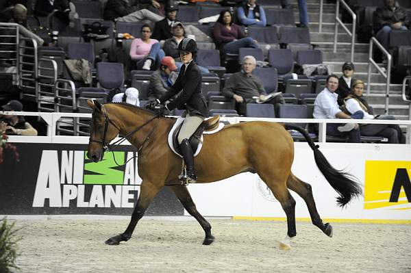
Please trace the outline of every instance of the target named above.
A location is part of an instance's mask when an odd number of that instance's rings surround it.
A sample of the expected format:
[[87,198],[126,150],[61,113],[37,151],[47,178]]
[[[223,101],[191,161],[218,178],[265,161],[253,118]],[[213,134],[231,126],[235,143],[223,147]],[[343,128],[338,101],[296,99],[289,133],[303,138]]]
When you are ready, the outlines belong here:
[[373,27],[377,32],[386,25],[401,22],[406,27],[410,27],[410,18],[407,15],[405,8],[396,6],[395,10],[391,10],[388,6],[384,8],[377,8],[373,15]]

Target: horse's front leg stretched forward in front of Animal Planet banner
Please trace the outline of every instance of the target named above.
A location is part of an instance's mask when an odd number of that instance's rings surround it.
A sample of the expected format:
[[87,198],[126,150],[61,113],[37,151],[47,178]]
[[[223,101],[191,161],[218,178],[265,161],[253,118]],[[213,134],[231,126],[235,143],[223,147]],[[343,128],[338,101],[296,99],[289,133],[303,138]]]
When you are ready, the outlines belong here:
[[138,220],[142,218],[147,207],[149,207],[151,201],[153,201],[153,198],[160,191],[161,188],[162,187],[154,185],[153,183],[142,181],[140,186],[140,197],[138,197],[137,205],[136,207],[134,207],[134,211],[132,214],[132,220],[130,220],[127,229],[124,233],[111,237],[110,239],[105,241],[105,244],[118,245],[121,241],[128,241],[132,237],[133,231],[136,228]]

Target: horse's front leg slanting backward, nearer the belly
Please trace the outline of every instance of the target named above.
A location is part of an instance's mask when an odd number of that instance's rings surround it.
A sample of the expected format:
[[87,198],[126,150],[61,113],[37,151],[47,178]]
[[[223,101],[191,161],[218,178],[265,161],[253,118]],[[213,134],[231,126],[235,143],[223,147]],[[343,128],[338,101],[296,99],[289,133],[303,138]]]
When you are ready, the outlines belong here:
[[184,209],[186,209],[186,211],[188,211],[188,213],[190,213],[190,215],[193,216],[199,222],[199,224],[201,224],[201,227],[206,233],[206,238],[204,239],[203,244],[208,245],[214,242],[214,236],[211,235],[211,225],[209,222],[207,222],[206,219],[203,218],[203,216],[201,216],[199,211],[197,211],[195,203],[192,201],[190,192],[188,192],[187,187],[173,186],[171,187],[171,190],[173,190],[177,198],[180,200],[180,202],[184,206]]

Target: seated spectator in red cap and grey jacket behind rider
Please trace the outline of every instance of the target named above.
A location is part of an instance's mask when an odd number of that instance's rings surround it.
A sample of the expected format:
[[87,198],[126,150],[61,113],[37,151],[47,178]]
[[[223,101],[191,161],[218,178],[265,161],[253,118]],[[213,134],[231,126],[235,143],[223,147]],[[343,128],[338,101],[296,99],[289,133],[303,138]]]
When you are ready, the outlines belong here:
[[149,100],[155,101],[160,99],[173,84],[178,77],[177,66],[173,57],[166,56],[162,58],[161,65],[158,70],[155,70],[150,77]]

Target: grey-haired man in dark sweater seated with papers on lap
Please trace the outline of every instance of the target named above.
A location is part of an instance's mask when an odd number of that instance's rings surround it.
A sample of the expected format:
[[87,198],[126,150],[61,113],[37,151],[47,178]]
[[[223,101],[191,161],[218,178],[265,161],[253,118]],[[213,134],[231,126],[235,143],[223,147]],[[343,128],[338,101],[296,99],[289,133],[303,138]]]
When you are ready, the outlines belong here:
[[253,70],[256,68],[256,58],[253,56],[245,56],[242,62],[242,70],[234,73],[229,78],[223,88],[223,95],[229,99],[236,100],[236,109],[238,114],[245,115],[247,103],[256,103],[256,101],[264,101],[274,105],[275,114],[278,116],[279,105],[284,104],[282,95],[274,96],[266,100],[266,90],[262,85],[261,79],[253,75]]

